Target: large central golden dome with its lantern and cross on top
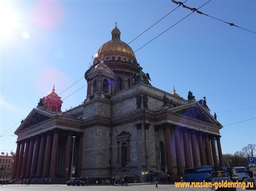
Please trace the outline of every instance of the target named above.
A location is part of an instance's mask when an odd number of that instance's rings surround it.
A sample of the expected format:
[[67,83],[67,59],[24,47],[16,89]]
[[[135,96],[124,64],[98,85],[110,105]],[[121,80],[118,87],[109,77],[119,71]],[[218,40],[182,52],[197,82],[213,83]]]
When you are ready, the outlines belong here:
[[105,61],[120,60],[137,64],[132,48],[120,40],[121,32],[117,26],[112,30],[111,35],[112,39],[104,43],[97,51],[93,64],[99,63],[101,57],[103,57]]

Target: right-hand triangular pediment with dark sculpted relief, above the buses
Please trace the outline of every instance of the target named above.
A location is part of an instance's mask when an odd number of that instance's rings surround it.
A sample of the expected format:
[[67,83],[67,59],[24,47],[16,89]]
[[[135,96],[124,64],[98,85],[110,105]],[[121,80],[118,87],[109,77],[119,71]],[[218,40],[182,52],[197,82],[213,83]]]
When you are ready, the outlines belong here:
[[180,105],[175,108],[171,108],[169,112],[181,115],[182,117],[193,119],[197,121],[202,121],[212,125],[220,125],[220,123],[210,114],[210,112],[200,105],[197,101],[193,103],[188,103],[185,105]]

